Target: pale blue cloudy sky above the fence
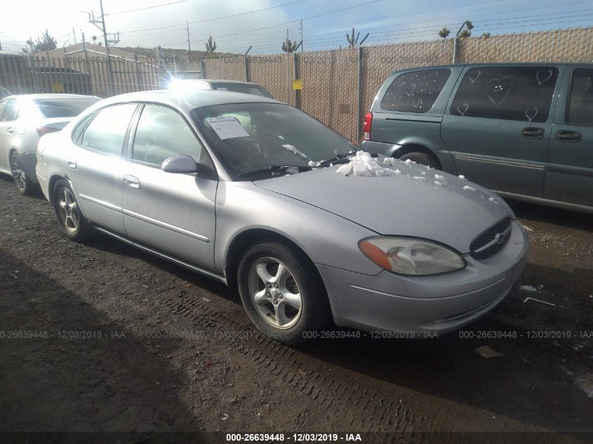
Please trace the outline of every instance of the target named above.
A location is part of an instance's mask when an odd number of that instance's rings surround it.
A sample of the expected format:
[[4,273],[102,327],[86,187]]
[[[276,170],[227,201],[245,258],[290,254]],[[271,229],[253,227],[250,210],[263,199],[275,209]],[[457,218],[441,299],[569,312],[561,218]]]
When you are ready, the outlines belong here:
[[[11,3],[0,18],[3,50],[20,51],[46,29],[58,47],[81,41],[83,32],[87,41],[102,39],[88,22],[90,11],[100,16],[99,0],[1,1]],[[187,49],[187,20],[193,50],[203,51],[212,35],[217,51],[251,46],[250,55],[281,53],[287,29],[314,51],[347,46],[352,27],[359,40],[369,33],[364,46],[371,46],[438,39],[444,25],[453,36],[464,20],[472,20],[473,36],[593,25],[593,0],[103,0],[103,10],[107,32],[120,33],[116,46]]]

